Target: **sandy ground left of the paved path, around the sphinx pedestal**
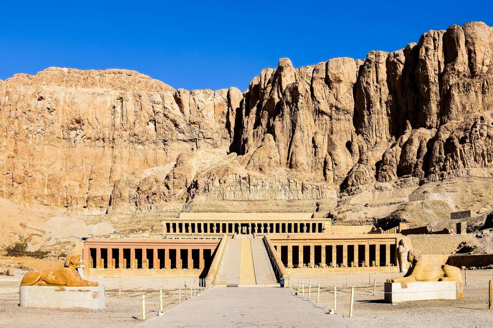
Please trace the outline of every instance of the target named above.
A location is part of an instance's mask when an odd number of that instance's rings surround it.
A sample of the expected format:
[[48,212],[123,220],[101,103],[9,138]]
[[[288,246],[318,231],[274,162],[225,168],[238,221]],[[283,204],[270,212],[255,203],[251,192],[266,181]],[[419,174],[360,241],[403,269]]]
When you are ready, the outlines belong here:
[[[0,328],[25,327],[135,327],[142,319],[142,294],[145,294],[147,317],[157,315],[159,289],[163,288],[164,310],[177,304],[178,285],[190,285],[188,277],[123,277],[122,297],[118,298],[120,278],[89,277],[105,286],[106,308],[88,309],[41,309],[19,307],[18,277],[0,276]],[[195,278],[198,291],[199,279]],[[187,293],[189,295],[189,288]],[[181,293],[184,299],[184,292]]]

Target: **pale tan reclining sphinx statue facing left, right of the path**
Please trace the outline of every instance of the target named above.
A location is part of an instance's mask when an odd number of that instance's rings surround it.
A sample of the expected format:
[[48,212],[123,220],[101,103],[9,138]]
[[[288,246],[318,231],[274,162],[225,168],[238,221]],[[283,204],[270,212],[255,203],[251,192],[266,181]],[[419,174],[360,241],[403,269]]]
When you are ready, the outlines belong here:
[[407,255],[411,267],[403,277],[387,279],[387,282],[416,282],[416,281],[462,281],[460,269],[443,265],[441,268],[423,261],[418,250],[411,250]]

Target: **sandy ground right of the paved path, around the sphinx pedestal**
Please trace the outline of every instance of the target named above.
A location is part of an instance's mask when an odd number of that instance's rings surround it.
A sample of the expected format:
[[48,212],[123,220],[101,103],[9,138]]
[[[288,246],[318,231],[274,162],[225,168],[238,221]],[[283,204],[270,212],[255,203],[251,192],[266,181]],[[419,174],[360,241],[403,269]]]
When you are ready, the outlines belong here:
[[[462,271],[465,272],[465,271]],[[327,309],[334,308],[334,284],[337,285],[337,314],[349,317],[351,286],[354,286],[352,322],[365,328],[475,328],[492,327],[493,309],[488,309],[488,284],[493,279],[493,270],[468,270],[464,299],[422,300],[397,304],[384,303],[384,281],[399,276],[397,273],[349,274],[346,275],[292,275],[291,289],[296,291],[298,280],[305,280],[305,297],[308,298],[308,281],[312,281],[311,299],[317,299],[317,284],[320,282],[319,304]],[[377,281],[376,296],[373,296],[373,279]],[[293,286],[294,285],[294,286]]]

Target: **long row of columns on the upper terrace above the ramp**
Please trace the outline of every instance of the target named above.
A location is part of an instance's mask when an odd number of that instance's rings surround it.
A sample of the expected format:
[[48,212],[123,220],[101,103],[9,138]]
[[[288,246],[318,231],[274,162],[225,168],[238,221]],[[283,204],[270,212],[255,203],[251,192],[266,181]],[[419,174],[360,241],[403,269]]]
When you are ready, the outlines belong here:
[[[246,231],[243,228],[246,228]],[[235,223],[163,222],[164,234],[323,233],[323,222]]]

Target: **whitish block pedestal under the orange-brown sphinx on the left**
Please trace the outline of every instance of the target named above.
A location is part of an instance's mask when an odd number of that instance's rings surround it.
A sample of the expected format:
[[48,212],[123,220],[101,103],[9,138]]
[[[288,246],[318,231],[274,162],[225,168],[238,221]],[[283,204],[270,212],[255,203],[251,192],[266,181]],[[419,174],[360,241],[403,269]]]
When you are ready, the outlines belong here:
[[21,307],[102,309],[105,307],[105,287],[20,286]]

